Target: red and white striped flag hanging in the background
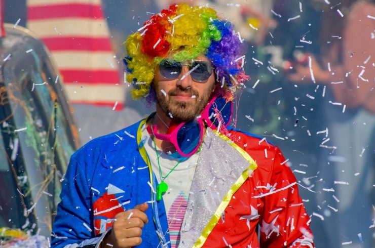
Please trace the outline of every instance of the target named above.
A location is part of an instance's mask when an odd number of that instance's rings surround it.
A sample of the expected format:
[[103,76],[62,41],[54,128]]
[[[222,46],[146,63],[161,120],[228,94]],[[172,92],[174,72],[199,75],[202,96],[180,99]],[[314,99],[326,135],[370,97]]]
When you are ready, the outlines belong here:
[[27,0],[27,27],[56,61],[71,103],[123,107],[101,0]]

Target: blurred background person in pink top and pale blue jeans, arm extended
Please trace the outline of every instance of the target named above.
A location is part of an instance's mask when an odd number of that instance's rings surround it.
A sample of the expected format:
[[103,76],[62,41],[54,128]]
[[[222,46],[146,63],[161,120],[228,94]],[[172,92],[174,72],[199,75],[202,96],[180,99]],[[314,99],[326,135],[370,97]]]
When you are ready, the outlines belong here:
[[326,216],[326,247],[373,247],[375,5],[325,2],[320,53],[307,54],[310,66],[294,66],[288,78],[324,87],[327,130],[320,145],[316,196],[320,213]]

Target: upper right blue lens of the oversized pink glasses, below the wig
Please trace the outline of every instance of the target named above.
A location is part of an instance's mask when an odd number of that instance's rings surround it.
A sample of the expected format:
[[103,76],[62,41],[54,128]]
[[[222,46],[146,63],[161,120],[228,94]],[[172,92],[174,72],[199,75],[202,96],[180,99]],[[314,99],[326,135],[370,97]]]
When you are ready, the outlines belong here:
[[224,99],[222,97],[218,97],[218,98],[215,99],[215,101],[210,106],[210,109],[208,110],[208,115],[209,115],[210,120],[213,123],[213,125],[215,125],[215,127],[218,127],[219,126],[219,119],[218,119],[218,116],[215,115],[215,113],[216,113],[215,109],[217,109],[217,111],[219,111],[219,113],[221,115],[221,118],[222,118],[222,121],[223,121],[223,123],[221,123],[221,125],[223,125],[224,127],[227,127],[229,125],[229,123],[231,122],[232,101],[227,102],[226,99]]

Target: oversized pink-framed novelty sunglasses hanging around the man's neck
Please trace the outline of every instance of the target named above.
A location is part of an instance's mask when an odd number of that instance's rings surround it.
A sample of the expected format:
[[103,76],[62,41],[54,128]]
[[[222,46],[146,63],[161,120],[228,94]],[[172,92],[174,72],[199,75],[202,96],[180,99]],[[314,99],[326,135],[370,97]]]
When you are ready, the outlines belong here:
[[228,127],[232,118],[232,102],[223,97],[215,96],[207,104],[200,117],[182,122],[170,127],[167,134],[159,134],[156,125],[147,126],[147,132],[155,138],[170,142],[183,157],[193,155],[203,140],[203,121],[213,130],[220,130],[220,126]]

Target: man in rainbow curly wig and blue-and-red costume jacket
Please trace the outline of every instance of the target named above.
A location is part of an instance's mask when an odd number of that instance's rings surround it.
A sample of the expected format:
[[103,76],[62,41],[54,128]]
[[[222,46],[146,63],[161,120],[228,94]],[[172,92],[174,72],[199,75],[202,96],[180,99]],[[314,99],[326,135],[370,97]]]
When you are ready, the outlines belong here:
[[214,10],[185,4],[128,37],[132,95],[156,112],[72,155],[53,246],[314,246],[280,150],[228,126],[248,79],[241,43]]

